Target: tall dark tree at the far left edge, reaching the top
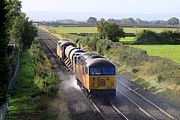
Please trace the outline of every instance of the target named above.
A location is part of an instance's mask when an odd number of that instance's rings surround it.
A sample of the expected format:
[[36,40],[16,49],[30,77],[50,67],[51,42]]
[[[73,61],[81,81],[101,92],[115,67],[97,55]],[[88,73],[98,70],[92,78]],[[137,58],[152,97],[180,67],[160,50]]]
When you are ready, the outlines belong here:
[[9,69],[11,63],[9,63],[7,53],[8,43],[10,40],[15,42],[19,39],[19,37],[15,37],[15,34],[20,33],[15,29],[18,22],[19,24],[22,23],[18,21],[20,13],[21,2],[19,0],[2,0],[0,2],[0,105],[2,105],[7,98],[7,89],[11,77],[10,72],[12,72],[12,70]]

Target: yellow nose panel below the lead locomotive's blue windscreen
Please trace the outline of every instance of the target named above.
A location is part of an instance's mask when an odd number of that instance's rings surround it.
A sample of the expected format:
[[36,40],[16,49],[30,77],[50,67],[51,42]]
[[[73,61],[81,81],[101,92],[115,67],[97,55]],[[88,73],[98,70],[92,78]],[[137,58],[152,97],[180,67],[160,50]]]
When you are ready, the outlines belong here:
[[89,76],[89,89],[116,89],[114,75]]

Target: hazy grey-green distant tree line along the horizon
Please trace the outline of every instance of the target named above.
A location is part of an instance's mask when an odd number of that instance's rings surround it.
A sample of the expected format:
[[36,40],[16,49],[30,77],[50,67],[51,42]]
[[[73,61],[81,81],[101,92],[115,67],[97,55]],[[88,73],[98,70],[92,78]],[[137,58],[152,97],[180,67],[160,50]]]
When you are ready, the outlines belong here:
[[[89,17],[87,21],[76,21],[72,19],[56,20],[56,21],[40,21],[39,25],[47,26],[96,26],[96,17]],[[177,27],[179,26],[179,19],[172,17],[165,20],[141,20],[140,18],[123,18],[123,19],[108,19],[108,23],[116,23],[122,27]]]

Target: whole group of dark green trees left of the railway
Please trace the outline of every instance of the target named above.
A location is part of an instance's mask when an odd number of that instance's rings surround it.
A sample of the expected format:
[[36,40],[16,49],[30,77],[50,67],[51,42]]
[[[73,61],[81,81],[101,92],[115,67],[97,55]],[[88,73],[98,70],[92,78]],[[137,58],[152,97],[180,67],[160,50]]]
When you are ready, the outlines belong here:
[[15,43],[17,48],[26,50],[37,35],[32,21],[21,12],[19,0],[0,2],[0,106],[7,100],[7,90],[11,78],[8,44]]

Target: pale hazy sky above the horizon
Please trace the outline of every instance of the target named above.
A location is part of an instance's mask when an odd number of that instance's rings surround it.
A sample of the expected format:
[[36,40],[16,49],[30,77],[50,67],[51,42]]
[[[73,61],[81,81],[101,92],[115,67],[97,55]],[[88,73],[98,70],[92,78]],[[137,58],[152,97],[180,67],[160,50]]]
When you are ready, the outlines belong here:
[[180,0],[21,0],[22,11],[106,14],[177,14]]

